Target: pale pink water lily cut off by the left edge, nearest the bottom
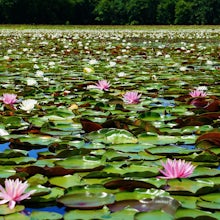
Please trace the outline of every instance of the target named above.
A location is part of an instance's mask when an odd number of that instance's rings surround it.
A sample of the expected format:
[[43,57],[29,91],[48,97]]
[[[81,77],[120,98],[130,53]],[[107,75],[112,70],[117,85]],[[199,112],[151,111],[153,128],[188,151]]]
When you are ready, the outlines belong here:
[[8,203],[8,207],[13,209],[17,202],[29,199],[30,195],[35,192],[35,190],[31,190],[30,192],[25,193],[27,188],[27,181],[22,183],[19,179],[6,179],[5,188],[0,185],[0,199],[2,199],[0,200],[0,204]]

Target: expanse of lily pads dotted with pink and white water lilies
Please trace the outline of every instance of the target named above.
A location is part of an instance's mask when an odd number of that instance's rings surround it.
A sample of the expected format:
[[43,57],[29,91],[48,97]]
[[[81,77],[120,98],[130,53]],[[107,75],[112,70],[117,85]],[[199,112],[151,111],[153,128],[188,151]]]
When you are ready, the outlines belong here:
[[219,33],[1,29],[0,216],[219,219]]

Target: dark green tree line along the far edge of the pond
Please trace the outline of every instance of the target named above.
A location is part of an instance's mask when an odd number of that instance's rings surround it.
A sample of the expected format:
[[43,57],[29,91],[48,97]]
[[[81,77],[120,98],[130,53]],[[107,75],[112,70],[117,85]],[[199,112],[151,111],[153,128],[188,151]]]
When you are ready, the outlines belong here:
[[220,0],[0,0],[1,24],[220,24]]

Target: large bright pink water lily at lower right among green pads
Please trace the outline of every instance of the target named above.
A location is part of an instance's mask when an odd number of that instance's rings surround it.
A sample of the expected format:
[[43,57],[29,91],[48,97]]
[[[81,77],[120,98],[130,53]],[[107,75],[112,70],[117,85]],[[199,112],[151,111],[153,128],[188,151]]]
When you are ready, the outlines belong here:
[[166,163],[162,162],[162,166],[164,170],[160,170],[160,172],[164,176],[160,176],[160,178],[164,179],[187,178],[195,169],[195,166],[193,166],[191,162],[186,162],[181,159],[167,159]]

